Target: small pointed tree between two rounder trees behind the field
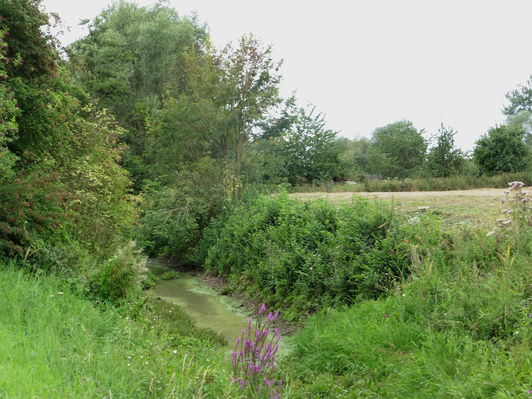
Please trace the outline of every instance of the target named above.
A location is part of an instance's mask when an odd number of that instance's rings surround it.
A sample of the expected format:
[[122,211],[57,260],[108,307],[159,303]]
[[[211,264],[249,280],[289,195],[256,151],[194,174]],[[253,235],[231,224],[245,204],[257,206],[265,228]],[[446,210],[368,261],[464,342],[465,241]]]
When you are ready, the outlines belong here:
[[445,178],[462,170],[465,155],[460,148],[454,147],[455,134],[451,127],[445,128],[441,124],[436,145],[430,148],[424,168],[429,176]]

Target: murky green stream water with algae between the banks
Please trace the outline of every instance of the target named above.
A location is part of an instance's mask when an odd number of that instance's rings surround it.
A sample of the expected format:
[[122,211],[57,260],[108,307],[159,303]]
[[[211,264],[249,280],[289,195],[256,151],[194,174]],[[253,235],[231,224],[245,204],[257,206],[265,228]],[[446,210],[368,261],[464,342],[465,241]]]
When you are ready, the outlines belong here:
[[[148,262],[146,266],[155,276],[171,270],[156,261]],[[249,315],[238,310],[238,302],[201,284],[189,273],[180,272],[177,279],[162,280],[149,292],[180,305],[192,315],[196,326],[211,328],[223,334],[228,340],[228,348],[236,344],[242,329],[247,329]]]

